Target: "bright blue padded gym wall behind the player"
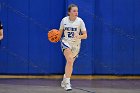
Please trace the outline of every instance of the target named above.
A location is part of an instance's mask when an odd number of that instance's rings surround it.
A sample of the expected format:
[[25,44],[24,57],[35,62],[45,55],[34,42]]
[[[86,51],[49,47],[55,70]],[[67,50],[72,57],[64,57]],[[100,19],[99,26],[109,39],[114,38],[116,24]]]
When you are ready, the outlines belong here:
[[47,32],[59,29],[71,3],[88,31],[74,74],[140,74],[139,0],[0,0],[0,73],[63,74],[60,43]]

